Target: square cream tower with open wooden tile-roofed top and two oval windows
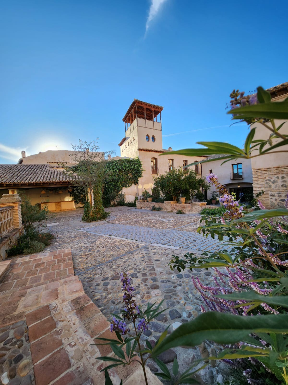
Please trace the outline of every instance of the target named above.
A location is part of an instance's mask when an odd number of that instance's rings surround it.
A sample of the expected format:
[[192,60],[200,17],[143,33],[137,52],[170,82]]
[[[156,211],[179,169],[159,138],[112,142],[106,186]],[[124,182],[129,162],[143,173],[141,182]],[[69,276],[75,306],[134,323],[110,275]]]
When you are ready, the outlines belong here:
[[119,143],[121,156],[136,157],[139,149],[162,150],[163,107],[134,99],[122,121],[125,137]]

